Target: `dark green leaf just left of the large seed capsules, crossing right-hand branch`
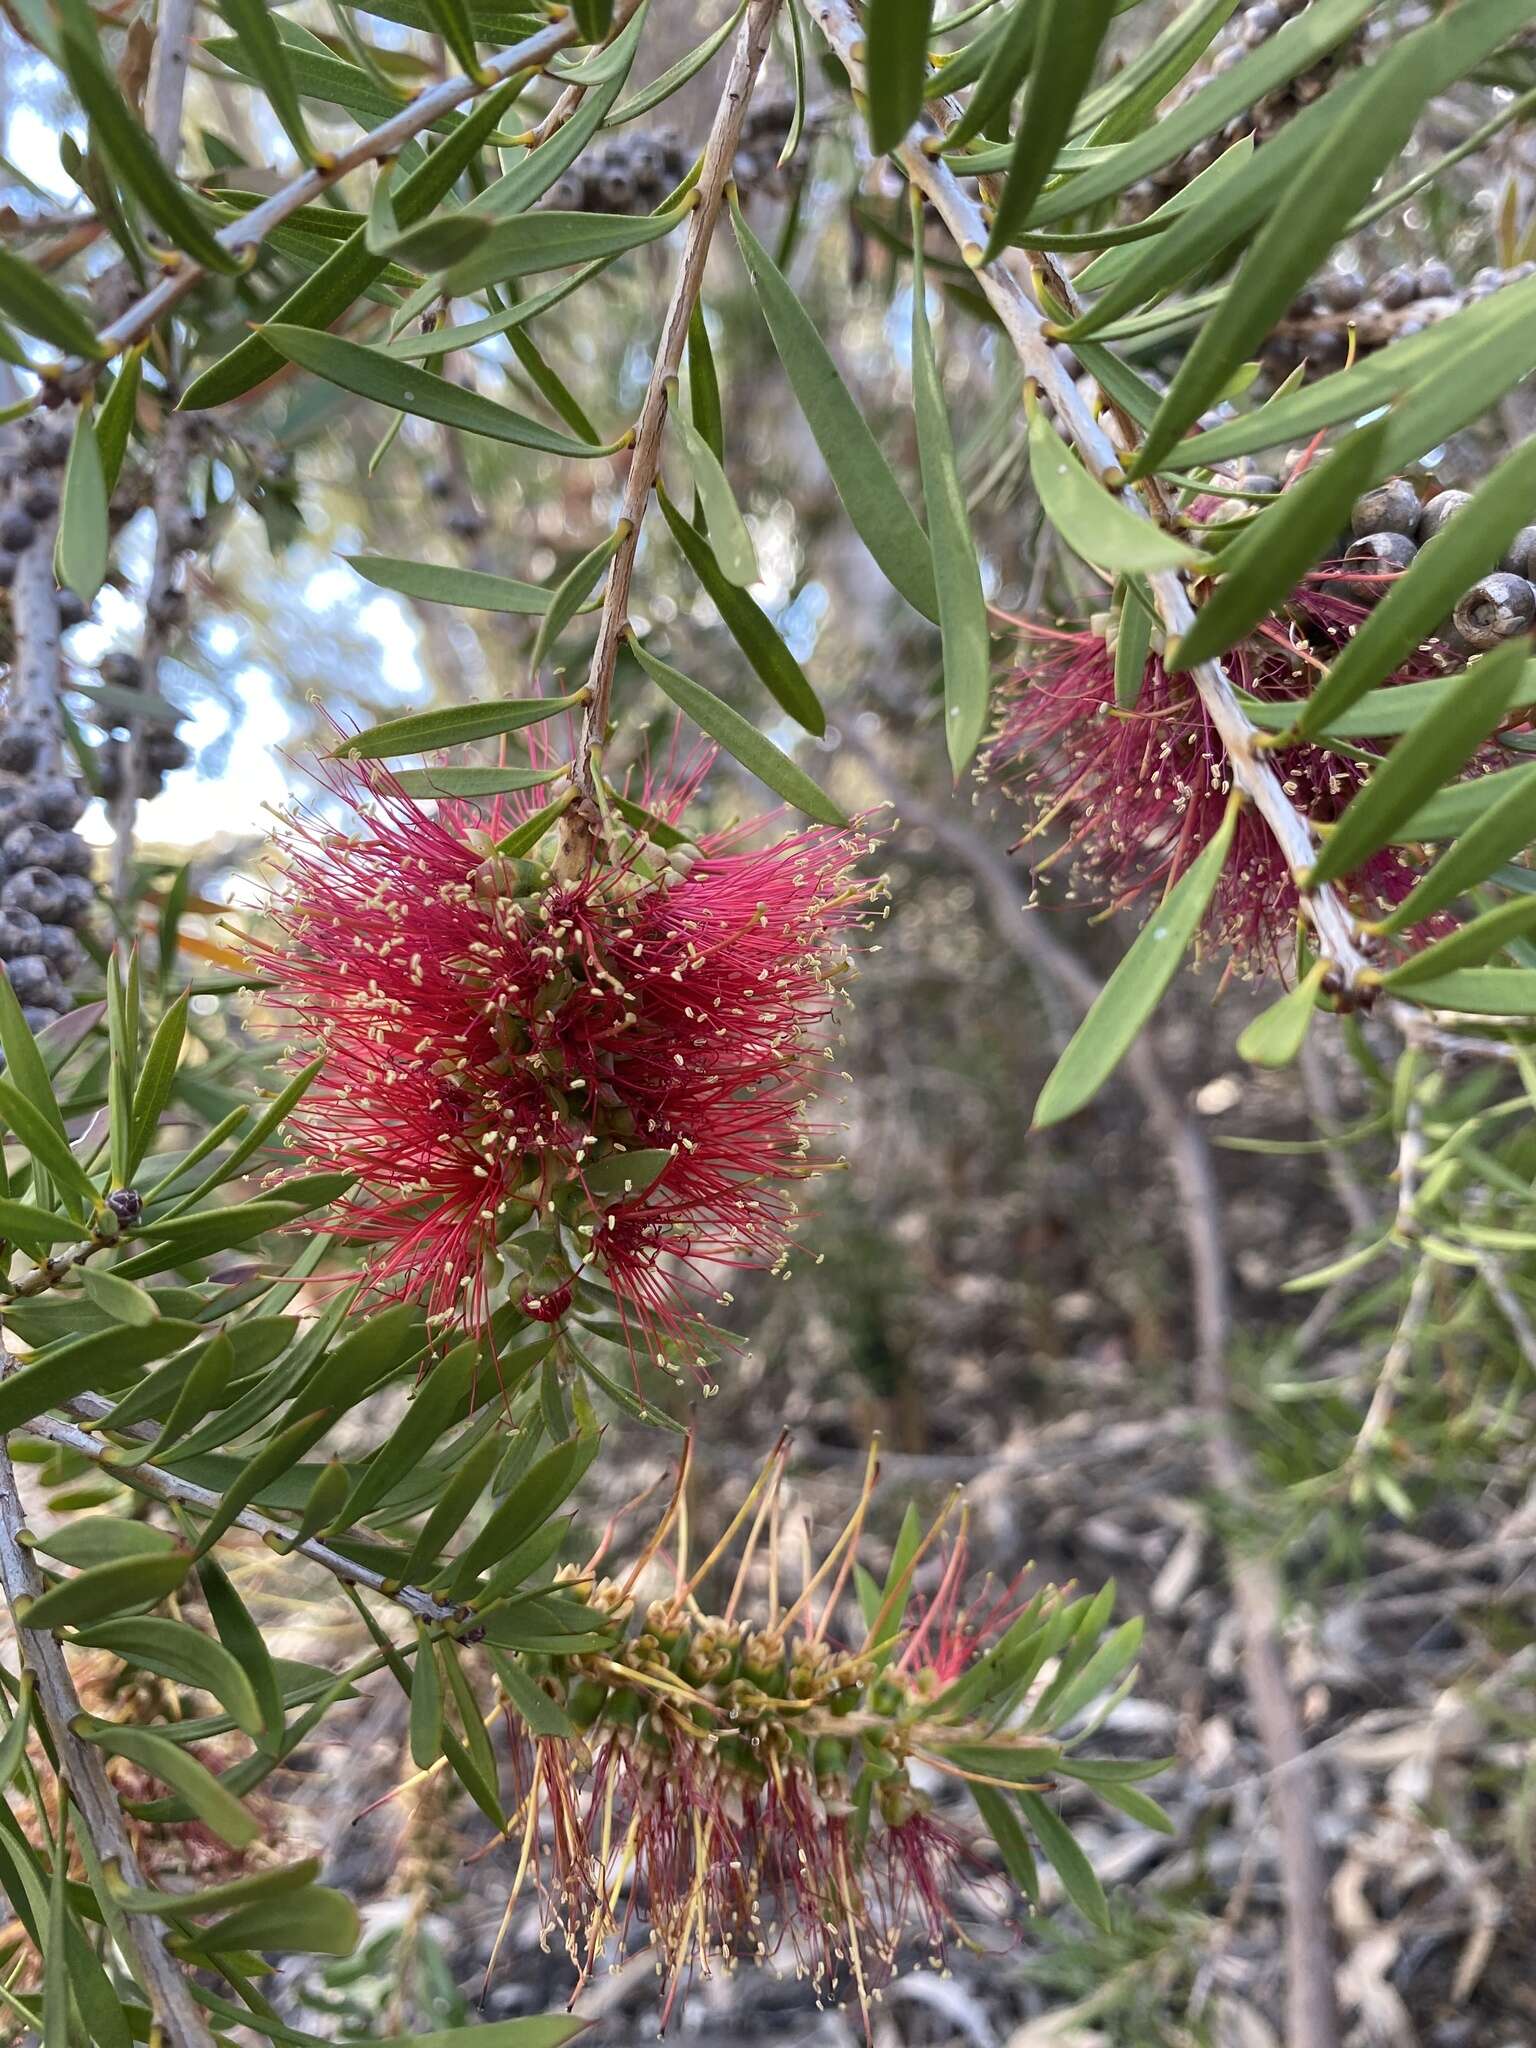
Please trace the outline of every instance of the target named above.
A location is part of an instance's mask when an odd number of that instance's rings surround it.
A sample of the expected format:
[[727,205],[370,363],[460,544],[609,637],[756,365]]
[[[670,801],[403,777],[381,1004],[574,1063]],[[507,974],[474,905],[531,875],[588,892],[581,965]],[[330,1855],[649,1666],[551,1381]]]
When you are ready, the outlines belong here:
[[1217,563],[1221,582],[1190,631],[1163,657],[1169,674],[1198,668],[1235,647],[1249,627],[1290,596],[1319,555],[1329,551],[1339,526],[1350,524],[1350,504],[1380,475],[1384,432],[1386,420],[1374,420],[1350,434],[1223,549]]

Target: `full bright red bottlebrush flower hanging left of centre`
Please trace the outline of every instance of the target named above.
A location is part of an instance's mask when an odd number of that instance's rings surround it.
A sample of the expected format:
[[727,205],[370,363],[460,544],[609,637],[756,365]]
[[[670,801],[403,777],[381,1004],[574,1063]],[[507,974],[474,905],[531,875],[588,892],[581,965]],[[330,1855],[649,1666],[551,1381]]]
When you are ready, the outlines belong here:
[[254,954],[324,1053],[293,1128],[356,1176],[373,1284],[469,1327],[504,1280],[539,1321],[606,1290],[631,1350],[676,1370],[721,1268],[791,1245],[866,840],[737,831],[557,881],[383,770],[332,784],[360,829],[293,823]]

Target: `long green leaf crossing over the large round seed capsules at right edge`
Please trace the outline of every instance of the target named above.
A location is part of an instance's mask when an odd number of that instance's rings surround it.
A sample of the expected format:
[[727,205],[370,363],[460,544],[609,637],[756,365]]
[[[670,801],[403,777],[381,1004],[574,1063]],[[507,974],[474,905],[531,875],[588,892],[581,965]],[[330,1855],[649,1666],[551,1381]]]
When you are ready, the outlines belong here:
[[1391,676],[1444,625],[1460,594],[1497,561],[1536,504],[1536,440],[1522,442],[1468,506],[1393,580],[1339,649],[1296,717],[1296,733],[1325,733],[1366,690]]

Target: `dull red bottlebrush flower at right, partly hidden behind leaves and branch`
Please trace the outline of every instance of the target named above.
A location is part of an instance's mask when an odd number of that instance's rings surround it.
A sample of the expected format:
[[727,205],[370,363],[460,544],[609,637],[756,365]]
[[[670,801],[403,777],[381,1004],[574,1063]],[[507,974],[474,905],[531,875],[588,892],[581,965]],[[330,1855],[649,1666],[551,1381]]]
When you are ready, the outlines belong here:
[[[1284,614],[1266,621],[1225,655],[1233,682],[1251,696],[1305,696],[1311,672],[1350,639],[1370,606],[1366,578],[1323,567]],[[1382,578],[1382,584],[1386,578]],[[1083,893],[1110,909],[1169,889],[1214,838],[1227,813],[1225,748],[1190,676],[1147,659],[1135,711],[1114,702],[1114,653],[1098,633],[1026,625],[1026,659],[987,756],[989,772],[1014,774],[1038,799],[1044,821],[1067,831],[1065,856]],[[1419,649],[1393,678],[1421,682],[1460,664]],[[1327,748],[1303,743],[1270,756],[1294,807],[1317,823],[1339,815],[1370,772]],[[1384,915],[1417,881],[1397,848],[1382,848],[1348,879],[1362,918]],[[1298,893],[1264,819],[1245,809],[1204,934],[1251,969],[1282,967],[1296,926]]]

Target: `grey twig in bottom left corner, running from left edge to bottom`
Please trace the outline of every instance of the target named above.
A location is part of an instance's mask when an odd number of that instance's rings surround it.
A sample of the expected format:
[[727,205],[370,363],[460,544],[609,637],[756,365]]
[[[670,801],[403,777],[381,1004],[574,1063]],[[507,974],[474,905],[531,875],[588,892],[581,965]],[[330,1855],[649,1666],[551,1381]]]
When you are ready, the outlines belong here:
[[[70,1665],[66,1663],[59,1638],[47,1628],[29,1628],[16,1616],[16,1604],[39,1599],[43,1575],[37,1559],[20,1540],[27,1526],[27,1511],[16,1489],[16,1473],[10,1454],[0,1444],[0,1585],[16,1622],[16,1636],[23,1655],[37,1679],[37,1706],[53,1739],[61,1776],[68,1780],[80,1825],[90,1835],[96,1860],[125,1882],[141,1888],[145,1878],[133,1853],[123,1808],[117,1804],[100,1749],[76,1735],[80,1716],[80,1694],[74,1690]],[[59,1851],[61,1853],[61,1851]],[[186,1976],[172,1958],[164,1942],[164,1921],[150,1915],[131,1913],[123,1919],[125,1937],[131,1948],[131,1964],[150,2011],[168,2048],[213,2048],[213,2034],[199,2013]],[[47,1958],[51,1970],[63,1968],[57,1956]]]

